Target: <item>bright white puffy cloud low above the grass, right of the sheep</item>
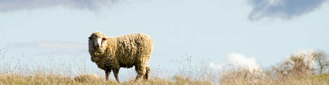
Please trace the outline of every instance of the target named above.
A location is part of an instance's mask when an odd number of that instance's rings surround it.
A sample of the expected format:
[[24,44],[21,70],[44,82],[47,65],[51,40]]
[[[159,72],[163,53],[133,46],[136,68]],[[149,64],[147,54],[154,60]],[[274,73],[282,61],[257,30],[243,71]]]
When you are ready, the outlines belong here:
[[255,58],[246,58],[239,53],[229,53],[226,55],[226,61],[224,63],[215,65],[214,62],[209,62],[209,66],[214,69],[245,67],[248,68],[249,71],[262,71],[259,69],[259,65],[256,64]]

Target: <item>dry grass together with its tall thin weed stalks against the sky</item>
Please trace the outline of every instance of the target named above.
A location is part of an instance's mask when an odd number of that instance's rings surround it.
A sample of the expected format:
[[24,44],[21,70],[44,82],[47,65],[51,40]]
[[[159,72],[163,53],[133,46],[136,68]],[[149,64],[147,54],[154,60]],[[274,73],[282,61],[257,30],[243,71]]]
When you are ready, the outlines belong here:
[[49,59],[47,66],[43,66],[37,61],[21,63],[20,59],[7,59],[7,50],[0,51],[3,58],[0,59],[0,85],[329,85],[329,74],[299,73],[299,76],[283,76],[270,69],[250,71],[242,66],[218,70],[208,66],[210,60],[199,59],[200,63],[195,64],[188,55],[183,58],[184,61],[173,62],[178,69],[174,76],[168,76],[173,73],[151,68],[149,81],[135,82],[135,75],[132,75],[118,83],[114,79],[105,81],[102,70],[92,70],[91,73],[99,77],[90,77],[80,82],[73,77],[90,73],[84,65],[86,58],[81,59],[82,64],[74,62],[73,66],[51,62]]

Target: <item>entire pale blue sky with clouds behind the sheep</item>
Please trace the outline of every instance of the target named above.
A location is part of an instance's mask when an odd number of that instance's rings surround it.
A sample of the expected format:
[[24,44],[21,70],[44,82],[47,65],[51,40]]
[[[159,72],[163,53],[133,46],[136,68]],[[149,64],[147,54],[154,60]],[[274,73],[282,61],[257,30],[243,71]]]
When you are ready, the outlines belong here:
[[0,0],[0,52],[8,46],[5,56],[22,62],[86,58],[96,66],[91,33],[145,33],[154,40],[151,68],[177,71],[173,61],[185,54],[212,67],[269,67],[298,50],[328,53],[328,14],[328,0]]

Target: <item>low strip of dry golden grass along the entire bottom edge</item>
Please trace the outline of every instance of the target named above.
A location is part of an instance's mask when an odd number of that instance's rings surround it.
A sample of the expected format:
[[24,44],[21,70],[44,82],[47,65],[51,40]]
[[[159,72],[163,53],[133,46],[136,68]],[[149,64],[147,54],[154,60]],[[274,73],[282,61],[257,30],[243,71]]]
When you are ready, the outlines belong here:
[[[0,85],[329,85],[329,75],[275,76],[257,74],[247,70],[230,70],[220,73],[219,83],[202,81],[195,78],[173,76],[160,78],[151,76],[149,81],[135,82],[134,78],[117,83],[115,80],[105,81],[104,77],[91,77],[85,81],[77,81],[72,77],[53,73],[5,74],[0,76]],[[209,77],[209,79],[212,77]]]

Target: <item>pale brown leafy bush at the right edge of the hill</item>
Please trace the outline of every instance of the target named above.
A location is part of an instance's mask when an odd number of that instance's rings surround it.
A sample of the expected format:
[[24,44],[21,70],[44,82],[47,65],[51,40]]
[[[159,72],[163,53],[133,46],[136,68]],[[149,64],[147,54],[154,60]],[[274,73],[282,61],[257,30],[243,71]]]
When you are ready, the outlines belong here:
[[328,55],[324,51],[299,50],[272,66],[272,69],[284,76],[299,76],[300,74],[322,74],[328,72]]

